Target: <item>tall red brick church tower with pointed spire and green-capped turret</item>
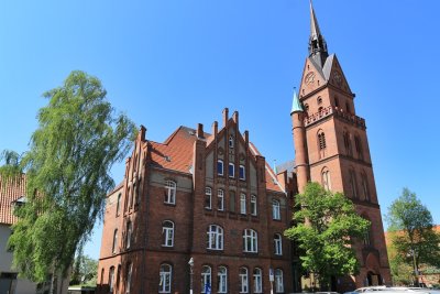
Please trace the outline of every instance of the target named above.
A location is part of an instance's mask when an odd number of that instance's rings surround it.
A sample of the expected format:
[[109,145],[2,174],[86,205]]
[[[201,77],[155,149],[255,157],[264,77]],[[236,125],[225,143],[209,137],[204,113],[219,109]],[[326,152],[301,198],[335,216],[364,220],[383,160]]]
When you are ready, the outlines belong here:
[[365,120],[356,116],[355,95],[337,56],[328,52],[311,1],[308,51],[290,112],[298,190],[311,181],[342,192],[372,224],[365,239],[354,243],[360,274],[340,277],[338,291],[391,284]]

